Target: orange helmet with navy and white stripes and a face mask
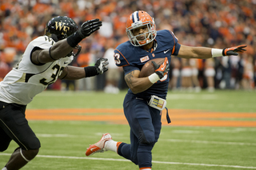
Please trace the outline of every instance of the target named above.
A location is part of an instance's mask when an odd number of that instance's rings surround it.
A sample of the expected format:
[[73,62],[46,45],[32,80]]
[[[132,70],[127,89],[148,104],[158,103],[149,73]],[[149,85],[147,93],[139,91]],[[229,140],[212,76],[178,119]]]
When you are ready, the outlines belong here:
[[[141,26],[147,26],[148,31],[143,33],[145,37],[143,40],[138,40],[138,36],[141,37],[142,34],[134,36],[133,30]],[[130,39],[130,43],[134,46],[142,46],[152,42],[157,36],[154,18],[143,10],[135,11],[127,18],[126,33]]]

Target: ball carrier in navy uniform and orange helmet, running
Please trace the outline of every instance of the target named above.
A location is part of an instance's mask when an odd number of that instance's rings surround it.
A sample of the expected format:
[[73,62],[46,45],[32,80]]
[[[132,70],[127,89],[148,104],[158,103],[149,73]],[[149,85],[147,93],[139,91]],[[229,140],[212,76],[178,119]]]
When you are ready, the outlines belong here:
[[[158,141],[162,109],[166,106],[171,55],[201,59],[238,55],[237,52],[246,50],[246,45],[226,49],[181,45],[171,30],[157,31],[154,18],[142,10],[135,11],[127,18],[126,33],[130,41],[118,45],[114,50],[114,60],[124,70],[130,88],[123,101],[124,113],[130,125],[130,144],[114,141],[110,133],[106,133],[101,140],[87,148],[86,156],[111,150],[138,164],[139,169],[150,170],[151,150]],[[165,61],[162,65],[153,62],[155,72],[148,77],[139,77],[142,66],[154,58],[165,58]],[[168,114],[166,119],[170,123]]]

